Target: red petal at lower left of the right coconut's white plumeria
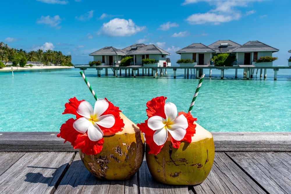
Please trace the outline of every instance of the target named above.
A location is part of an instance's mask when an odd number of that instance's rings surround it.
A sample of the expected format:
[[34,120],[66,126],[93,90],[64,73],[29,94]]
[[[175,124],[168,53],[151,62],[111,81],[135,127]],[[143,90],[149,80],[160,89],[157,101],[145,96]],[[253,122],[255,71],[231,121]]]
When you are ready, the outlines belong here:
[[146,144],[150,147],[150,151],[148,153],[157,155],[161,151],[163,145],[157,145],[154,142],[153,136],[155,131],[148,127],[148,120],[145,120],[144,123],[137,124],[137,127],[139,127],[141,132],[145,134]]

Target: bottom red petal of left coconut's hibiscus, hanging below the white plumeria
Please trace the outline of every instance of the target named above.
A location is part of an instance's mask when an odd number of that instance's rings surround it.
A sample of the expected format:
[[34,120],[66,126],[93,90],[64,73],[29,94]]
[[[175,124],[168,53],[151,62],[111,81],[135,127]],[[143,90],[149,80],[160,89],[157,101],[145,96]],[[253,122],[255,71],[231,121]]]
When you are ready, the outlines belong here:
[[96,155],[101,152],[103,143],[103,138],[98,141],[91,141],[86,133],[78,136],[74,149],[81,149],[81,152],[87,155]]

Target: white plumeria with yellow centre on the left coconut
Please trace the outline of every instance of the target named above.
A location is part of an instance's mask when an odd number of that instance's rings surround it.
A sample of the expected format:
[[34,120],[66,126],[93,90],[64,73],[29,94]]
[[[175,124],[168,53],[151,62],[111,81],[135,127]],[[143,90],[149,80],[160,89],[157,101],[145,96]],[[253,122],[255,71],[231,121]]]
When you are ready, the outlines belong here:
[[83,117],[75,120],[73,123],[74,129],[83,134],[88,131],[88,138],[91,141],[98,141],[102,139],[103,132],[98,125],[105,128],[110,128],[115,123],[115,118],[113,115],[102,115],[107,110],[108,106],[109,103],[106,100],[98,99],[95,102],[93,110],[89,102],[82,101],[77,108],[77,113]]

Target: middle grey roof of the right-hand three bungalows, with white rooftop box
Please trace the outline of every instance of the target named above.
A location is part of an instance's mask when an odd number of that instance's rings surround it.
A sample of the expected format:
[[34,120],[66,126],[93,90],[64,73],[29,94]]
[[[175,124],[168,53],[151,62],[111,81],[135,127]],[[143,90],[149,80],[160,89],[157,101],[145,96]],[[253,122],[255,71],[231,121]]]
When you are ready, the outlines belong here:
[[208,47],[217,53],[231,53],[241,45],[231,41],[231,40],[218,40]]

